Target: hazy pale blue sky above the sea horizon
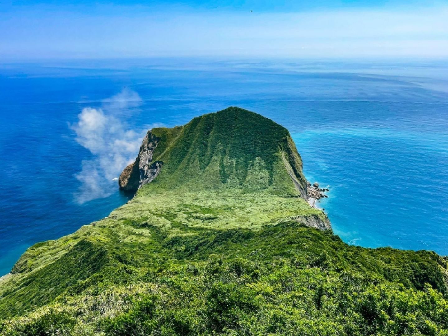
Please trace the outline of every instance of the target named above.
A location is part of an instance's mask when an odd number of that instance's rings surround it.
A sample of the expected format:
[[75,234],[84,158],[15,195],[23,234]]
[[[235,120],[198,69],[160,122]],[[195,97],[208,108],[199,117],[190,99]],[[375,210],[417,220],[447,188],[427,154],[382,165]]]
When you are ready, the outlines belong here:
[[0,2],[0,60],[446,58],[448,1]]

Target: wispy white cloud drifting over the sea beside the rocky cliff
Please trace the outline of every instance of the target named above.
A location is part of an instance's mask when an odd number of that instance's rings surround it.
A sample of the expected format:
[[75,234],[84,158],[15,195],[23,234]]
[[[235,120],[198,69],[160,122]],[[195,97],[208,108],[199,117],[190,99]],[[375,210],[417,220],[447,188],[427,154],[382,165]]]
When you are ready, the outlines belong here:
[[146,128],[126,130],[120,116],[135,110],[141,102],[136,92],[124,89],[104,99],[102,108],[83,108],[78,122],[70,125],[76,141],[94,155],[93,159],[82,161],[82,170],[76,175],[81,182],[74,194],[76,202],[107,197],[116,190],[116,181],[112,179],[134,161],[146,132]]

